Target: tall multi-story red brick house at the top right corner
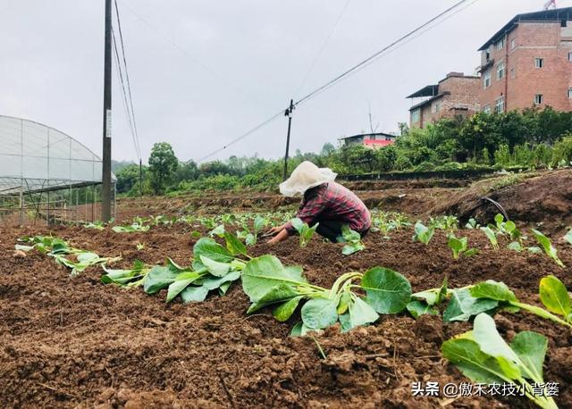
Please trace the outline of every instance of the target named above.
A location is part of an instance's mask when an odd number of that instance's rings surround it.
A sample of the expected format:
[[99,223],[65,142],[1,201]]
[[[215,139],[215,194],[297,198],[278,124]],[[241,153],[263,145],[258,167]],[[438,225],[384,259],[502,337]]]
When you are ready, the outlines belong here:
[[518,14],[479,51],[484,112],[572,111],[572,7]]

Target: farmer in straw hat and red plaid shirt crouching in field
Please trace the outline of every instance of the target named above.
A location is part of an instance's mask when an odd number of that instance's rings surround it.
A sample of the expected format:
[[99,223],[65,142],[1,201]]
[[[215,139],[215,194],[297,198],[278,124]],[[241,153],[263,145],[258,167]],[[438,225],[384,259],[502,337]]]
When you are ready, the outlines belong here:
[[[336,173],[327,168],[318,168],[314,163],[303,162],[292,172],[290,178],[280,184],[284,196],[304,195],[296,214],[308,226],[319,223],[315,231],[324,238],[336,242],[341,237],[341,226],[357,231],[361,236],[371,227],[371,214],[366,205],[348,188],[333,181]],[[289,221],[274,227],[270,234],[275,235],[269,244],[280,243],[296,230]]]

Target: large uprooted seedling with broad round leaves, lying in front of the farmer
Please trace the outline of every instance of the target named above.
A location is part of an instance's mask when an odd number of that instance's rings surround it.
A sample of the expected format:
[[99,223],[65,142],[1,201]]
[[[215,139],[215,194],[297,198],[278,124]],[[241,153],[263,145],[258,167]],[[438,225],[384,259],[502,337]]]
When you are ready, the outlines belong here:
[[[360,280],[360,285],[354,281]],[[341,322],[343,331],[376,321],[379,313],[403,311],[411,297],[407,279],[396,271],[375,267],[362,274],[349,272],[336,280],[332,288],[310,284],[300,267],[284,267],[273,255],[249,261],[242,271],[242,288],[250,298],[248,313],[273,307],[278,321],[287,321],[303,303],[302,321],[292,335],[306,335]],[[366,298],[357,296],[353,288],[361,288]]]

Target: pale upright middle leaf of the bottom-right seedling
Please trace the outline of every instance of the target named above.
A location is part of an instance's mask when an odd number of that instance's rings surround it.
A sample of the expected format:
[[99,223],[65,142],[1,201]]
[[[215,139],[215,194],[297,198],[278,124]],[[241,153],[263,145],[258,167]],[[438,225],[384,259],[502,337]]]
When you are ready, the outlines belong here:
[[480,313],[475,317],[473,338],[484,354],[497,358],[502,371],[509,379],[521,378],[519,358],[502,339],[490,315]]

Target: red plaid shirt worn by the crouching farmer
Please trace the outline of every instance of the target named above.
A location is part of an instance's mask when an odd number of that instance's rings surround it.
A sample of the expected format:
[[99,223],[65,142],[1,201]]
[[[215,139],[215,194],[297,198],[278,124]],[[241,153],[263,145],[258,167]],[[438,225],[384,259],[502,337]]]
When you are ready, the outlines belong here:
[[[349,229],[363,233],[372,225],[366,205],[349,188],[339,183],[327,182],[304,193],[304,199],[296,216],[309,226],[316,221],[333,220],[349,224]],[[290,234],[296,230],[289,221],[285,229]]]

